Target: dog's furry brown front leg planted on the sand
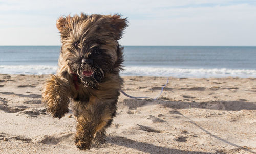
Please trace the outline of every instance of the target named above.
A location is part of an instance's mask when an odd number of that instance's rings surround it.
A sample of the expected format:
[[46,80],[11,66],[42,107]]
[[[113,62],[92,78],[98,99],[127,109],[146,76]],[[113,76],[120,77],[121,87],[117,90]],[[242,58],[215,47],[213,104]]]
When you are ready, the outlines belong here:
[[95,99],[90,99],[88,104],[81,104],[81,106],[84,106],[84,109],[79,111],[77,117],[75,144],[81,150],[90,150],[96,135],[101,137],[97,141],[104,140],[104,129],[112,120],[112,111],[109,108],[108,102],[97,102]]

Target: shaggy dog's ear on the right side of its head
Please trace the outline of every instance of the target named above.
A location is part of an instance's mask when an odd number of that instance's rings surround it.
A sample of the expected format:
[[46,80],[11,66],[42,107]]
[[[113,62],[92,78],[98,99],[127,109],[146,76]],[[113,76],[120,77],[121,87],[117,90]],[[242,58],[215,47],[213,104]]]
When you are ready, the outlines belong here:
[[117,40],[122,38],[122,33],[125,27],[128,25],[127,18],[121,18],[121,15],[114,14],[113,16],[110,16],[110,25],[112,28],[114,28],[114,34]]

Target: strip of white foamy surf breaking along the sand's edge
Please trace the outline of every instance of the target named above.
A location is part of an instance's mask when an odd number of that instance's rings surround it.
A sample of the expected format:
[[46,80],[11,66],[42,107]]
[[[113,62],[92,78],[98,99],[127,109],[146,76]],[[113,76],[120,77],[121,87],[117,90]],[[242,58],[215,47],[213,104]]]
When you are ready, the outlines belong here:
[[[45,65],[18,65],[7,66],[0,65],[1,74],[55,74],[57,66]],[[249,69],[184,69],[171,67],[142,67],[142,66],[127,66],[121,71],[122,76],[174,76],[174,77],[241,77],[241,78],[256,78],[256,70]]]

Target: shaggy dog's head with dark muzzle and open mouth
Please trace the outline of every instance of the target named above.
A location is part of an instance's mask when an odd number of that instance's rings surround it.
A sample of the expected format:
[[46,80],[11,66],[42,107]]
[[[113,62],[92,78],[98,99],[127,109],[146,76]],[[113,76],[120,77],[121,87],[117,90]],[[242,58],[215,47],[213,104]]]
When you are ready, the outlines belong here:
[[106,73],[118,73],[123,61],[118,40],[127,26],[120,15],[60,17],[61,54],[70,70],[85,86],[94,87]]

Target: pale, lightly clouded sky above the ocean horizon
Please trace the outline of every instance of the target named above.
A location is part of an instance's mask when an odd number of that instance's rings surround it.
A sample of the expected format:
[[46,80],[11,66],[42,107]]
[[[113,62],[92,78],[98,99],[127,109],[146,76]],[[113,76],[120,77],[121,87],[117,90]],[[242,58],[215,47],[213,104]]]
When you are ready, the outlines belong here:
[[0,45],[61,45],[62,15],[122,14],[121,45],[256,46],[256,0],[0,0]]

